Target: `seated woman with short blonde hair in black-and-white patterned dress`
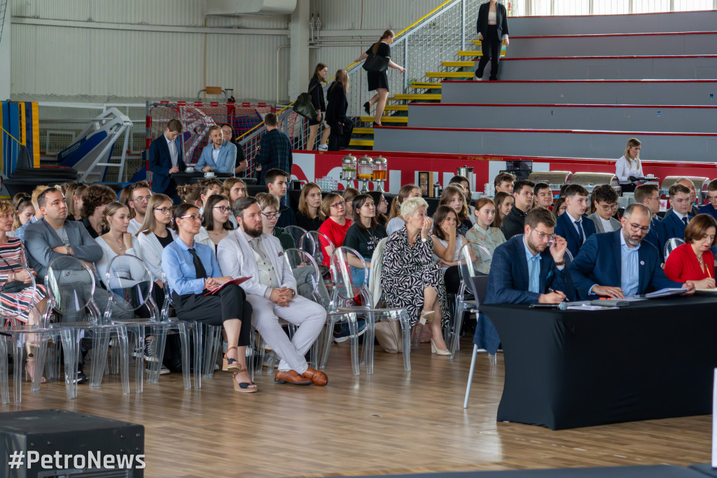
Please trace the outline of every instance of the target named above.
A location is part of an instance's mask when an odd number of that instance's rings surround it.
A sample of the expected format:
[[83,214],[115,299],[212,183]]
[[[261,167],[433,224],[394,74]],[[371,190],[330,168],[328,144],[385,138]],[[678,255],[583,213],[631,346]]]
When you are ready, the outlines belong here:
[[433,258],[432,221],[427,208],[428,203],[421,197],[402,203],[406,226],[386,240],[381,289],[387,306],[408,311],[412,326],[419,319],[430,322],[432,352],[450,355],[441,330],[442,325],[447,326],[447,317],[442,324],[442,311],[447,305],[443,271]]

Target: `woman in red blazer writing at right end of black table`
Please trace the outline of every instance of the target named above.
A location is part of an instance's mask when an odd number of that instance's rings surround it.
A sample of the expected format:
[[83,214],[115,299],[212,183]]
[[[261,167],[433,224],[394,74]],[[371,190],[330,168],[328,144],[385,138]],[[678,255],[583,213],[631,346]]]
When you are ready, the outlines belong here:
[[715,287],[715,258],[710,250],[717,244],[717,222],[698,214],[685,228],[685,243],[665,261],[665,275],[675,282],[695,281],[697,289]]

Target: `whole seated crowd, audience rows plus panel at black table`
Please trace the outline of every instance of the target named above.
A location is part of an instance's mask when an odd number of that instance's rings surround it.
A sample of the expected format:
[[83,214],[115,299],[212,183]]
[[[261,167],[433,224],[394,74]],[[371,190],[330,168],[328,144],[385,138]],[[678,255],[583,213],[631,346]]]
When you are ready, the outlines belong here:
[[[227,162],[220,151],[224,146],[215,147],[226,142],[219,142],[222,131],[212,133],[217,141],[205,149],[205,162],[214,169],[212,164]],[[234,161],[236,154],[229,156]],[[234,389],[244,393],[257,390],[245,358],[251,326],[281,359],[277,382],[328,383],[326,374],[309,367],[305,358],[326,324],[326,311],[298,296],[293,271],[282,257],[298,246],[284,231],[287,226],[321,233],[323,266],[331,265],[334,248],[356,250],[364,261],[348,258],[352,281],[367,286],[363,266],[370,275],[374,253],[386,239],[380,276],[371,279],[371,286],[379,283],[386,306],[406,309],[412,326],[427,323],[432,352],[442,356],[450,355],[442,331],[450,325],[448,294],[459,289],[460,252],[467,243],[488,253],[478,269],[489,276],[488,303],[622,298],[662,287],[682,287],[690,294],[716,286],[717,180],[708,185],[710,202],[701,207],[695,205],[689,179],[675,182],[669,190],[673,207],[662,219],[655,184],[637,185],[635,204],[620,212],[609,185],[594,187],[590,195],[570,184],[554,198],[549,184],[503,173],[495,177],[493,199],[473,202],[469,182],[456,176],[429,217],[415,184],[405,184],[389,209],[381,192],[348,188],[343,195],[325,194],[309,182],[294,209],[285,205],[289,180],[288,172],[269,169],[267,192],[256,197],[247,195],[239,178],[223,184],[202,179],[177,187],[172,195],[153,193],[145,181],[128,185],[119,197],[103,184],[39,186],[32,195],[0,202],[0,275],[7,282],[27,283],[29,270],[42,284],[54,258],[72,256],[95,273],[95,302],[104,310],[111,294],[108,264],[121,254],[137,256],[156,285],[153,299],[160,308],[168,294],[179,319],[224,327],[223,370],[234,372]],[[174,195],[180,205],[174,205]],[[666,258],[670,238],[684,244]],[[241,285],[231,283],[247,277]],[[3,294],[16,294],[41,312],[47,304],[42,286],[34,294],[22,289]],[[19,313],[14,323],[33,324],[36,317]],[[298,326],[292,337],[280,319]],[[495,350],[498,337],[489,318],[479,322],[486,348]],[[347,333],[342,328],[338,339]],[[140,356],[148,358],[151,347],[146,347]],[[78,380],[83,381],[81,364]]]

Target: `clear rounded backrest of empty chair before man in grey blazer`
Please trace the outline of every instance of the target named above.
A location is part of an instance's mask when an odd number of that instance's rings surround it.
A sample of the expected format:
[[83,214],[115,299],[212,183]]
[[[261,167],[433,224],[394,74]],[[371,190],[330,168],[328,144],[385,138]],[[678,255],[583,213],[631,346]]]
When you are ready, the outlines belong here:
[[95,272],[87,263],[73,256],[54,258],[47,266],[45,288],[49,298],[46,314],[54,309],[62,322],[99,322],[100,310],[93,298]]

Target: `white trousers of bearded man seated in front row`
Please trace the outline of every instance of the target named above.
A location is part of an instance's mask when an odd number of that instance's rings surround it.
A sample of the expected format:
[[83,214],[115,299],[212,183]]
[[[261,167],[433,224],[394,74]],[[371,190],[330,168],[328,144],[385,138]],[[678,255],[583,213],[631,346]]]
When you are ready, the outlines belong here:
[[[247,294],[247,300],[254,309],[252,325],[281,357],[278,370],[294,370],[299,374],[305,372],[308,363],[304,355],[326,324],[323,307],[303,296],[295,296],[288,306],[277,306],[269,299],[255,294]],[[298,326],[292,339],[282,329],[279,319]]]

